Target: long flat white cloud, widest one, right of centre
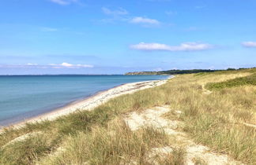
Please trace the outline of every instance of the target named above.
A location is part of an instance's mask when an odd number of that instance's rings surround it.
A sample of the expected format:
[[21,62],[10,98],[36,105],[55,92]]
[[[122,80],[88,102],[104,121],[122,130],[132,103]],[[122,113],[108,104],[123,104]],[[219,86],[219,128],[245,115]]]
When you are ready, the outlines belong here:
[[166,44],[161,43],[145,43],[141,42],[136,45],[130,46],[131,49],[139,49],[139,50],[165,50],[165,51],[198,51],[213,48],[212,45],[208,43],[197,43],[197,42],[185,42],[180,44],[179,46],[168,46]]

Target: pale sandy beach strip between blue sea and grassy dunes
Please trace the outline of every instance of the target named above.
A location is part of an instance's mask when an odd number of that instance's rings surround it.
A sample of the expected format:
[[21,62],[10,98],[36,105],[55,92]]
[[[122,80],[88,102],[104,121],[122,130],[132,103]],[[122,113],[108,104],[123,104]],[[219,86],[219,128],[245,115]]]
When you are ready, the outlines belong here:
[[[173,77],[174,76],[170,76],[168,77],[168,79],[172,79]],[[115,86],[109,90],[99,91],[91,97],[85,97],[84,99],[73,101],[70,104],[65,105],[61,108],[55,108],[51,112],[46,112],[39,116],[23,119],[20,122],[9,124],[9,126],[6,127],[0,127],[0,133],[5,128],[19,128],[24,127],[26,123],[36,123],[42,122],[43,120],[57,119],[60,116],[69,115],[70,113],[76,112],[79,109],[82,109],[83,111],[91,111],[93,108],[104,104],[105,102],[111,100],[114,97],[119,97],[123,94],[132,94],[137,90],[145,90],[155,86],[160,86],[164,83],[167,83],[168,79],[144,81],[137,83],[125,83],[120,86]]]

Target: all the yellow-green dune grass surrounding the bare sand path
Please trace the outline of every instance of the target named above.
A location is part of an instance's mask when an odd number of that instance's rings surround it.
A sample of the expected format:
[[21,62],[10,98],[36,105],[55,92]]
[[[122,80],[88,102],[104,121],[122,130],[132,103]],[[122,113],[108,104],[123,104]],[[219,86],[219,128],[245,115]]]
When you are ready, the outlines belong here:
[[[163,86],[116,97],[91,112],[77,111],[53,121],[6,129],[0,134],[0,163],[117,164],[134,159],[145,164],[150,148],[167,145],[168,138],[149,128],[133,133],[122,122],[113,121],[127,112],[171,105],[182,112],[179,119],[185,123],[183,130],[195,141],[243,163],[253,164],[256,162],[256,130],[243,123],[256,124],[256,86],[222,87],[212,90],[212,94],[204,94],[204,87],[207,83],[227,82],[255,72],[255,69],[244,69],[177,75]],[[38,132],[42,134],[31,134]],[[15,141],[24,134],[31,135],[23,141]],[[167,159],[159,161],[183,164],[184,154],[177,149]]]

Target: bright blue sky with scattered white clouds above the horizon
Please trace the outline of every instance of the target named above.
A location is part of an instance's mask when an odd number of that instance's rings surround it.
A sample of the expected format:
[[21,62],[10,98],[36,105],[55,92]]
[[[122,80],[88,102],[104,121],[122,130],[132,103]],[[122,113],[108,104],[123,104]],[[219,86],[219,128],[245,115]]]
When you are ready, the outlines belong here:
[[0,2],[0,75],[251,67],[255,0]]

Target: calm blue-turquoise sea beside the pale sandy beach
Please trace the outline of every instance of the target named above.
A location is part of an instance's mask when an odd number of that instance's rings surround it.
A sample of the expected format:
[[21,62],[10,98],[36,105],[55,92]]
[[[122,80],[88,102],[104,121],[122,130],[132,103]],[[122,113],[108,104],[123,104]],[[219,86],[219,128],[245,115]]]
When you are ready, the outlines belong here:
[[0,126],[50,112],[102,90],[165,75],[13,75],[0,76]]

